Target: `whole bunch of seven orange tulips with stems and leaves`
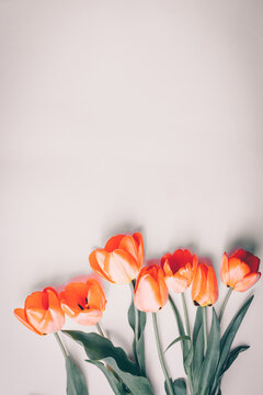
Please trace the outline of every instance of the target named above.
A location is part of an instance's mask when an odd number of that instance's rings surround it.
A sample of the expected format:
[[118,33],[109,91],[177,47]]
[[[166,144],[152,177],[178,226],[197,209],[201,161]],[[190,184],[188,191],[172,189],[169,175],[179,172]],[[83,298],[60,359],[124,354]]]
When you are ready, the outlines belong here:
[[[147,314],[150,313],[165,393],[185,395],[188,388],[191,395],[220,395],[225,372],[239,353],[249,348],[231,347],[253,296],[243,303],[224,334],[220,321],[232,291],[247,291],[260,279],[260,259],[243,249],[238,249],[230,256],[224,253],[220,276],[228,292],[218,311],[214,307],[218,300],[215,271],[187,249],[164,255],[160,264],[142,267],[144,240],[140,233],[135,233],[112,237],[104,248],[98,248],[90,253],[89,261],[93,271],[104,280],[113,284],[130,285],[133,297],[128,321],[134,331],[133,358],[129,358],[124,349],[114,346],[104,335],[99,321],[105,311],[106,298],[102,285],[95,279],[71,282],[60,293],[48,286],[42,292],[28,295],[24,308],[14,309],[15,317],[35,334],[55,335],[66,359],[67,394],[87,395],[88,388],[83,374],[65,348],[64,335],[84,348],[87,362],[101,370],[114,394],[152,395],[144,343]],[[196,306],[193,330],[184,295],[191,285],[192,300]],[[174,293],[182,296],[184,318],[174,302]],[[168,301],[174,313],[179,334],[167,349],[181,342],[186,379],[171,379],[161,347],[158,312]],[[211,308],[209,325],[208,307]],[[98,334],[61,330],[65,314],[82,326],[95,326]]]

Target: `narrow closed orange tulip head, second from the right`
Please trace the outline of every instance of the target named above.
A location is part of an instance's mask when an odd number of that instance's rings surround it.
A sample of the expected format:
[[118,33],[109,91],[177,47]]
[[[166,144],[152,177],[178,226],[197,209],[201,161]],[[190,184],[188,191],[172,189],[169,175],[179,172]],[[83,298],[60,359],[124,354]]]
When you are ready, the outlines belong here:
[[213,267],[198,263],[192,286],[192,298],[196,306],[211,306],[218,298],[217,278]]

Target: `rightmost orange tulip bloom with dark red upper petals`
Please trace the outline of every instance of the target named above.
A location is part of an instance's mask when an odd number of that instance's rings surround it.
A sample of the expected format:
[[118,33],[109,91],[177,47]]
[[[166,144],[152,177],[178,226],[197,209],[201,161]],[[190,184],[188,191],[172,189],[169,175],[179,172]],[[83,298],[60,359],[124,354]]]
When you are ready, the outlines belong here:
[[243,249],[238,249],[229,258],[225,252],[221,260],[221,280],[235,291],[247,291],[260,280],[259,267],[260,259]]

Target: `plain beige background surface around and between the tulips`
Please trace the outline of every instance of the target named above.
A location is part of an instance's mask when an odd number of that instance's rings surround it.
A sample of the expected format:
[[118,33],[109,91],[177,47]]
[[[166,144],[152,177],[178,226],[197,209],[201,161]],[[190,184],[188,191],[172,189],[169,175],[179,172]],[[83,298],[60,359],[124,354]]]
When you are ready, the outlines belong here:
[[[54,337],[36,337],[12,309],[87,273],[110,235],[141,229],[148,258],[192,246],[217,271],[237,238],[262,257],[262,19],[260,0],[0,1],[1,394],[65,394]],[[251,349],[224,395],[263,393],[262,281],[254,291],[236,341]],[[130,350],[129,290],[106,284],[106,294],[102,325]],[[147,368],[162,395],[150,318]],[[176,336],[169,306],[160,320],[165,346]],[[173,377],[180,352],[167,354]],[[111,394],[82,368],[90,394]]]

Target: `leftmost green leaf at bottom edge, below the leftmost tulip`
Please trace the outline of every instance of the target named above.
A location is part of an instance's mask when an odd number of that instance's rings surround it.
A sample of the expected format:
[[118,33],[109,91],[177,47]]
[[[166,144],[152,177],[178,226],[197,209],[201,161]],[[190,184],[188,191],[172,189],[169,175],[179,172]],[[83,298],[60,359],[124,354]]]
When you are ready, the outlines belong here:
[[85,379],[73,361],[66,357],[67,395],[88,395]]

